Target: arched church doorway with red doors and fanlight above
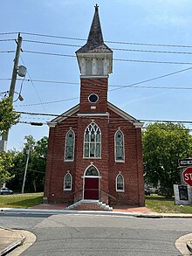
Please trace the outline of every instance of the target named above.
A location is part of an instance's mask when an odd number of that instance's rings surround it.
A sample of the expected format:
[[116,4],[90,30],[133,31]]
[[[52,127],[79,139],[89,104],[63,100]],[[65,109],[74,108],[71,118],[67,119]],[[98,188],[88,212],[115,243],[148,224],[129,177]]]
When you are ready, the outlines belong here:
[[99,199],[99,171],[93,165],[85,171],[84,199]]

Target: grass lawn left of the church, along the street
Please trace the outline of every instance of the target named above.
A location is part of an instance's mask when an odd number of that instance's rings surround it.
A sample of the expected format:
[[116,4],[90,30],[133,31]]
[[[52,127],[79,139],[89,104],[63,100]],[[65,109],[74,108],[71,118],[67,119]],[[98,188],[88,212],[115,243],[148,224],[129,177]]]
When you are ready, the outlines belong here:
[[0,195],[0,208],[29,208],[41,204],[43,193]]

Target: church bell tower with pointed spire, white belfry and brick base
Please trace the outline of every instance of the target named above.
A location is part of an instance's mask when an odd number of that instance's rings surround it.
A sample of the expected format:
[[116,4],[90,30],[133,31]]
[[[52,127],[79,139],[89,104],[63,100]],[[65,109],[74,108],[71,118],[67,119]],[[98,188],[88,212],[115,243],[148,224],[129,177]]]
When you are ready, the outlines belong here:
[[113,52],[104,43],[98,7],[96,4],[86,45],[76,52],[80,70],[80,114],[107,111],[108,75],[112,73]]

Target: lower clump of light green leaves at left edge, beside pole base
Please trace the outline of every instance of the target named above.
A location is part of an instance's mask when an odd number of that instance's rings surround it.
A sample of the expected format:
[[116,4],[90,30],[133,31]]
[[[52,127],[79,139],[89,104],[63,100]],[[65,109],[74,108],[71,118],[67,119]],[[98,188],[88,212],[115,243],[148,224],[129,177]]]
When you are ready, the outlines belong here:
[[10,174],[10,170],[13,167],[13,157],[10,153],[4,151],[0,152],[0,187],[4,182],[9,181],[14,177],[14,174]]

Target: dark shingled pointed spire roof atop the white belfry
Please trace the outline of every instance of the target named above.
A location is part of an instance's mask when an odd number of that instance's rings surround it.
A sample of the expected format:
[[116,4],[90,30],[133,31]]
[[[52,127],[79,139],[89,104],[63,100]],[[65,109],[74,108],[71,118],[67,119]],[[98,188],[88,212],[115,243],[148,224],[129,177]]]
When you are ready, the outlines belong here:
[[86,45],[82,46],[76,53],[83,52],[112,52],[112,50],[104,44],[103,35],[99,21],[98,5],[95,6],[95,12],[89,36]]

